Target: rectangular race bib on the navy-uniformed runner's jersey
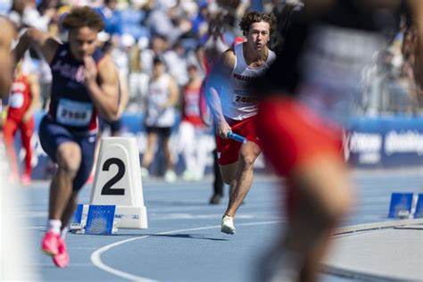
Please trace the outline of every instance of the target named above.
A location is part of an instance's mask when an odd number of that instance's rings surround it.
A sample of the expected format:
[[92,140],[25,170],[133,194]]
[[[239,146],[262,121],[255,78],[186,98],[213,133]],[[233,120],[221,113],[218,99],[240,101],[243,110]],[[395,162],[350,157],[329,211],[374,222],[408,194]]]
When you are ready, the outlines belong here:
[[89,124],[93,104],[61,99],[57,106],[56,120],[63,125],[83,127]]

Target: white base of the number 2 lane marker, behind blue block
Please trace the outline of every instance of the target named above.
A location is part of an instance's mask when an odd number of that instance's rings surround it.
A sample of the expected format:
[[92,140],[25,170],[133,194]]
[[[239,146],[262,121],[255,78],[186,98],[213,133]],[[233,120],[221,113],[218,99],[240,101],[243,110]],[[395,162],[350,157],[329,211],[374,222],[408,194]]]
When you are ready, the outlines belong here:
[[[89,204],[84,204],[82,219],[87,219]],[[114,218],[117,220],[118,228],[148,228],[147,210],[144,207],[133,207],[127,205],[116,205]]]

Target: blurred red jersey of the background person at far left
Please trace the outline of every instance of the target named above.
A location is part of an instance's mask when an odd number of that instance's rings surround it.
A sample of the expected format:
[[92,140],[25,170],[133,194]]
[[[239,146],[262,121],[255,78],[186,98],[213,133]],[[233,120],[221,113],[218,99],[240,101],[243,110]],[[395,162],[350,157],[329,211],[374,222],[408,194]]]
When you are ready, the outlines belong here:
[[31,103],[31,89],[26,76],[21,75],[13,81],[11,95],[9,97],[9,109],[7,118],[22,120]]

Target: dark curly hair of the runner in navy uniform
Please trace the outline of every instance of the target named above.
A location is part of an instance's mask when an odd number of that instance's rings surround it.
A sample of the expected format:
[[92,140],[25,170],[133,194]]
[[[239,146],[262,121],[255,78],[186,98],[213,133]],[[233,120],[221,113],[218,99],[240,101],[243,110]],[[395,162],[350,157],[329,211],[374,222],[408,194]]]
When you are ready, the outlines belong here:
[[88,27],[100,32],[104,29],[104,21],[102,17],[90,7],[75,7],[64,17],[62,27],[64,29]]

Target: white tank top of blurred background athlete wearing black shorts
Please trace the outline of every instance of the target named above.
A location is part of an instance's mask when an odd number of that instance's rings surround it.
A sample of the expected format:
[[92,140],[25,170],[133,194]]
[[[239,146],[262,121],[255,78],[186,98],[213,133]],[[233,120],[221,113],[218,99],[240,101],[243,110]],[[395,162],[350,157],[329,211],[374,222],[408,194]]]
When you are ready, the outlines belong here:
[[147,95],[147,115],[145,124],[149,127],[167,128],[175,123],[175,108],[162,108],[170,95],[170,75],[163,74],[157,80],[152,80]]

